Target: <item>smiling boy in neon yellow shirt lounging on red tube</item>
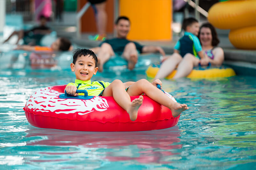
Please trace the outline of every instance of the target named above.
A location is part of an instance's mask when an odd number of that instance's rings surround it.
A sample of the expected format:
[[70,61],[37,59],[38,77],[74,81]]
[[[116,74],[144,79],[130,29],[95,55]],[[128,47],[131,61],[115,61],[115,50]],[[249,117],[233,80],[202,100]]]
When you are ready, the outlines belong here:
[[[89,96],[113,96],[118,103],[130,116],[132,121],[137,119],[138,110],[143,102],[145,93],[148,97],[156,102],[168,107],[172,111],[172,116],[177,117],[188,107],[186,104],[180,104],[172,101],[160,89],[157,89],[156,84],[162,85],[160,80],[155,80],[153,83],[145,79],[136,82],[125,82],[114,80],[112,83],[104,81],[93,81],[91,78],[98,71],[98,59],[95,53],[88,49],[76,49],[73,52],[73,63],[70,64],[71,70],[76,74],[75,83],[68,83],[66,91],[69,95],[77,96],[77,89],[85,89]],[[139,96],[131,102],[130,96]]]

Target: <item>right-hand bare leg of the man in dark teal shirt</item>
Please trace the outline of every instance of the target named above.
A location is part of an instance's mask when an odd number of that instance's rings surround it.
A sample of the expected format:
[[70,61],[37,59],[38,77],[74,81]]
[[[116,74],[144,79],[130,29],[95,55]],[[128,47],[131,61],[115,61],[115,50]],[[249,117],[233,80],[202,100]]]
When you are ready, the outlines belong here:
[[138,61],[138,52],[135,44],[133,42],[126,44],[122,55],[128,61],[128,68],[132,70]]

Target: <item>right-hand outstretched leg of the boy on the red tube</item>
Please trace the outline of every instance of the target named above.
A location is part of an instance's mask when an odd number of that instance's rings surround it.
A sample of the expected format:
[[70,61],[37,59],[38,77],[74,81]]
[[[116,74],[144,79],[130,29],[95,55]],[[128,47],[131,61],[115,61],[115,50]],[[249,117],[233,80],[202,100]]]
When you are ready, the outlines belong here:
[[154,101],[168,107],[172,111],[172,116],[177,117],[184,110],[187,110],[188,107],[186,104],[180,104],[174,102],[171,98],[165,95],[160,89],[157,89],[156,86],[151,84],[149,81],[145,79],[141,79],[133,83],[129,89],[127,89],[127,93],[130,96],[137,96],[142,93],[145,93],[148,97],[153,99]]

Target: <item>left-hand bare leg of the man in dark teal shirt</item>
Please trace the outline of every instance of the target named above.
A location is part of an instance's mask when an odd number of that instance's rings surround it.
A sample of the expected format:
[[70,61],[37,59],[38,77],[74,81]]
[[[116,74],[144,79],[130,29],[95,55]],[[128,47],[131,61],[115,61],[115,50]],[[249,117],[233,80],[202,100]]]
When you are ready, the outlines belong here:
[[111,56],[115,55],[113,48],[108,43],[103,43],[100,46],[100,50],[98,52],[98,63],[99,63],[99,71],[103,71],[103,65],[106,61],[109,60]]

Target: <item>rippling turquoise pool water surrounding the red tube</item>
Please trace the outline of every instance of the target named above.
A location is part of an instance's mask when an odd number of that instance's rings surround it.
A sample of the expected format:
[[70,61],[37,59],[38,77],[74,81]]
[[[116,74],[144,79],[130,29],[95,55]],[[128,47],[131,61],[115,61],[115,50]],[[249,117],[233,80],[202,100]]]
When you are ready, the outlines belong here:
[[[33,92],[72,82],[73,72],[2,68],[0,169],[256,168],[255,77],[163,80],[163,89],[189,106],[176,126],[155,131],[81,132],[33,127],[23,111]],[[98,74],[93,80],[141,78],[146,76],[140,70]]]

